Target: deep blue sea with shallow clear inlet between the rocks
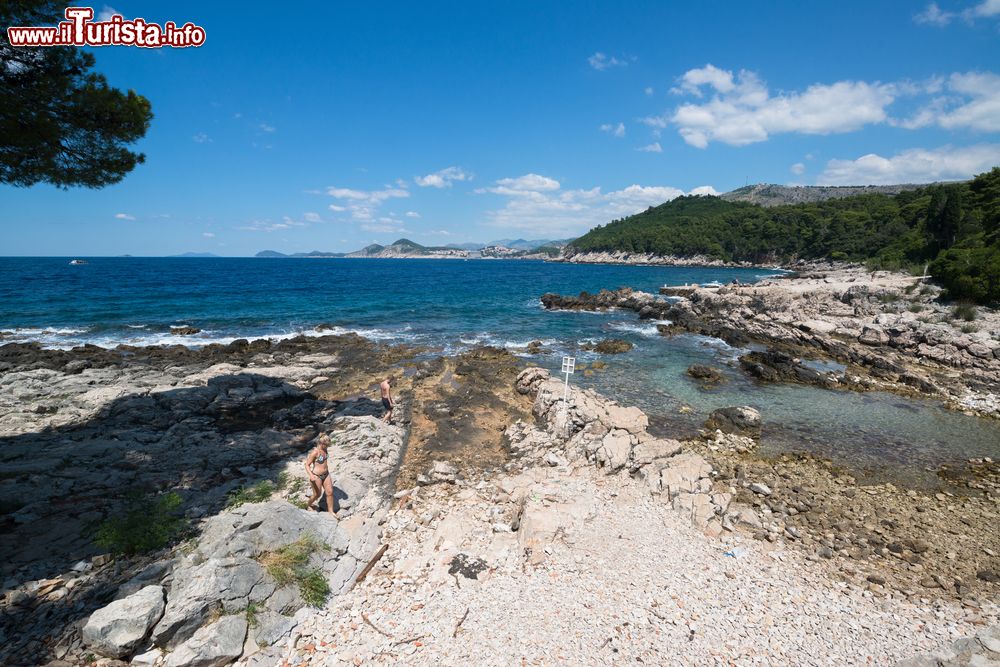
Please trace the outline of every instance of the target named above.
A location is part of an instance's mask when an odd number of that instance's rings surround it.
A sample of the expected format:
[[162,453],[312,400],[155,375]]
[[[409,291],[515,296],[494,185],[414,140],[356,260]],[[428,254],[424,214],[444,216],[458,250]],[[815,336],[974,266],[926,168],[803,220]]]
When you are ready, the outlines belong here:
[[[735,363],[744,350],[719,340],[663,338],[634,313],[544,310],[545,292],[711,280],[741,282],[762,269],[633,267],[503,260],[0,258],[0,343],[198,345],[236,338],[318,335],[317,324],[386,342],[456,352],[475,344],[523,353],[529,341],[550,350],[536,363],[558,370],[563,353],[581,364],[584,341],[607,336],[635,343],[605,357],[608,368],[573,381],[594,386],[650,414],[667,435],[691,435],[708,413],[753,405],[764,415],[765,451],[813,450],[859,471],[923,477],[925,466],[1000,456],[1000,422],[947,411],[931,401],[794,385],[759,386]],[[171,326],[202,330],[173,336]],[[721,366],[728,382],[705,390],[684,371]],[[690,411],[688,410],[690,409]]]

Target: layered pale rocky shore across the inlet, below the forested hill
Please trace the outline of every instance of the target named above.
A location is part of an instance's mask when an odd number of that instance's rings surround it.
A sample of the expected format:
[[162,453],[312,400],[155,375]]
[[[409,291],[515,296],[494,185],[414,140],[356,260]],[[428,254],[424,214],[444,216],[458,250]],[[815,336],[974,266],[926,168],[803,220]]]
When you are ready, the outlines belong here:
[[[689,332],[763,354],[743,360],[764,381],[938,398],[949,407],[1000,417],[1000,313],[939,300],[917,278],[859,267],[811,271],[751,285],[680,287],[661,298],[628,288],[545,294],[549,309],[635,311],[662,321],[663,335]],[[801,360],[832,361],[821,372]]]

